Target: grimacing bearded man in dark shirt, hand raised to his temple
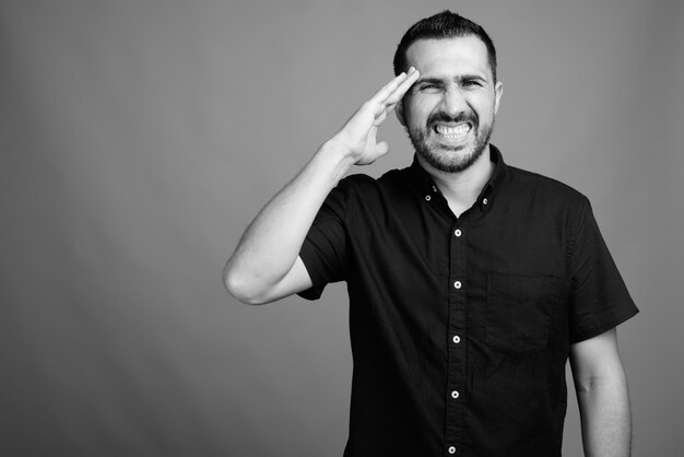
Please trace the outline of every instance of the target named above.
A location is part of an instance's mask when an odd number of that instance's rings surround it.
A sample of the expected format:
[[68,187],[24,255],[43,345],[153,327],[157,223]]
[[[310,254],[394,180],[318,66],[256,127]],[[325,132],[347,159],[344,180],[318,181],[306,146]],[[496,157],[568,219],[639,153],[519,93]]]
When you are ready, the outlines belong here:
[[[556,456],[570,358],[587,455],[629,455],[615,327],[638,309],[588,200],[490,144],[503,85],[449,11],[402,38],[394,78],[249,226],[224,270],[251,304],[344,280],[354,358],[345,456]],[[413,164],[341,179],[389,150]]]

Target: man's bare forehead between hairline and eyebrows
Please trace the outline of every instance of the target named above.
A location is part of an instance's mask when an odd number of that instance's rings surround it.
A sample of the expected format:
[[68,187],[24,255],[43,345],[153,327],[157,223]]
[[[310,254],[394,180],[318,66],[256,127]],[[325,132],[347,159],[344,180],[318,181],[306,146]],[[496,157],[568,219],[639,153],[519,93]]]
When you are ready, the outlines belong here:
[[418,39],[406,49],[408,66],[422,77],[452,77],[475,73],[492,78],[487,48],[476,36]]

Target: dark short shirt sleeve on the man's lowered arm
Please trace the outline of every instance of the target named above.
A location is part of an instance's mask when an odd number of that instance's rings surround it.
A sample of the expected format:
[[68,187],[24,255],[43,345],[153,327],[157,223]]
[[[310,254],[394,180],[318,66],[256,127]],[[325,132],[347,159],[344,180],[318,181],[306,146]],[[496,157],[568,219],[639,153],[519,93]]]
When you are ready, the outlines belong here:
[[608,250],[587,198],[582,198],[568,255],[570,343],[601,335],[639,312]]

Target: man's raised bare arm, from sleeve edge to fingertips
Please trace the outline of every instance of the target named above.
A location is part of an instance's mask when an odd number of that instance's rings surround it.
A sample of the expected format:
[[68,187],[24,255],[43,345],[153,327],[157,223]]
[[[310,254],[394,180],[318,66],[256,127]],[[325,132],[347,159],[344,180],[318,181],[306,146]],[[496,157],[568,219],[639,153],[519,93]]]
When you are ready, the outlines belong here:
[[369,164],[387,154],[387,142],[376,141],[378,126],[417,77],[412,68],[380,89],[261,210],[223,270],[231,294],[258,304],[310,285],[297,257],[318,210],[352,164]]

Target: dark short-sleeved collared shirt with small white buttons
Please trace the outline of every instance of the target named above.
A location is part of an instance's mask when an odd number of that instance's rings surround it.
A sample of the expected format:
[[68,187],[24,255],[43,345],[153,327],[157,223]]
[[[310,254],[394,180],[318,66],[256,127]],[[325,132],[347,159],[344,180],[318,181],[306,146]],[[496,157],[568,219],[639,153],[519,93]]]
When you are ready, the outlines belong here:
[[414,160],[341,180],[307,235],[300,295],[347,282],[344,456],[559,456],[569,345],[638,312],[587,198],[490,150],[459,218]]

